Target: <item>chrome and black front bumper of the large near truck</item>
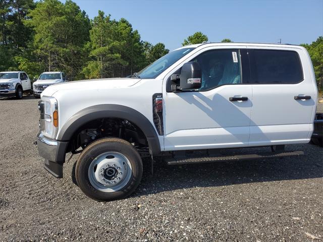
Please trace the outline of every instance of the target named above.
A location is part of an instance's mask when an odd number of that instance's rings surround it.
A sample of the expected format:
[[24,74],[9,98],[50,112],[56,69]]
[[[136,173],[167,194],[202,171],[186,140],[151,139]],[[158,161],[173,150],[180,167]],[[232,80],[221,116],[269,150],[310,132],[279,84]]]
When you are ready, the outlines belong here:
[[50,140],[41,132],[38,133],[37,139],[38,153],[45,159],[44,168],[53,176],[62,178],[68,142]]

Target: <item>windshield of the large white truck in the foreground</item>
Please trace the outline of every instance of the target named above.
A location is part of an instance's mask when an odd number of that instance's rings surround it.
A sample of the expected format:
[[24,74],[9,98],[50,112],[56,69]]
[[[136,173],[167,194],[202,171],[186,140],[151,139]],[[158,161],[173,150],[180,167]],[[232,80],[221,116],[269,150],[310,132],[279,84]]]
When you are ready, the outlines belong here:
[[182,48],[171,51],[142,69],[140,72],[136,73],[136,75],[137,77],[143,79],[156,78],[160,73],[164,72],[167,68],[172,66],[175,62],[191,52],[193,49],[195,48]]

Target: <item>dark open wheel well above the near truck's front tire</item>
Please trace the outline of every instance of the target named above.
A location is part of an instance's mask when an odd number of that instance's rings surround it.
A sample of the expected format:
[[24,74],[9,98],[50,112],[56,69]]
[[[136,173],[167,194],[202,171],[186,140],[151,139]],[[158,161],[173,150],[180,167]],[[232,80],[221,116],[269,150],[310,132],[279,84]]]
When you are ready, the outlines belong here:
[[129,120],[116,117],[98,118],[82,125],[73,133],[68,151],[79,153],[93,141],[104,137],[126,140],[137,150],[149,153],[148,141],[143,131]]

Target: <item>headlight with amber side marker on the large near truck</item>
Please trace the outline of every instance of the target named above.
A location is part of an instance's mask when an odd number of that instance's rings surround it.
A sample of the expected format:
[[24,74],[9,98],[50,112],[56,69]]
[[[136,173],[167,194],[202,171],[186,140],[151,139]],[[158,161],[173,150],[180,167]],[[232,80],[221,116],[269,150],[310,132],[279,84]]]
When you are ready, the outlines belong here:
[[43,135],[55,139],[59,126],[58,104],[54,97],[42,96],[40,106],[40,130]]

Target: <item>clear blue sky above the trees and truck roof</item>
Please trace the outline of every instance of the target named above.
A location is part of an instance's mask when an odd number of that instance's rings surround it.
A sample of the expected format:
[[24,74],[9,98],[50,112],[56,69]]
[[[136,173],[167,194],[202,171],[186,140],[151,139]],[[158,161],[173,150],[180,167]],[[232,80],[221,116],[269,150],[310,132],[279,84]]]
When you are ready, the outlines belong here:
[[[64,2],[64,1],[62,1]],[[107,1],[74,0],[90,18],[102,10],[127,19],[142,40],[170,50],[201,31],[209,41],[311,43],[323,35],[323,0],[307,1]]]

